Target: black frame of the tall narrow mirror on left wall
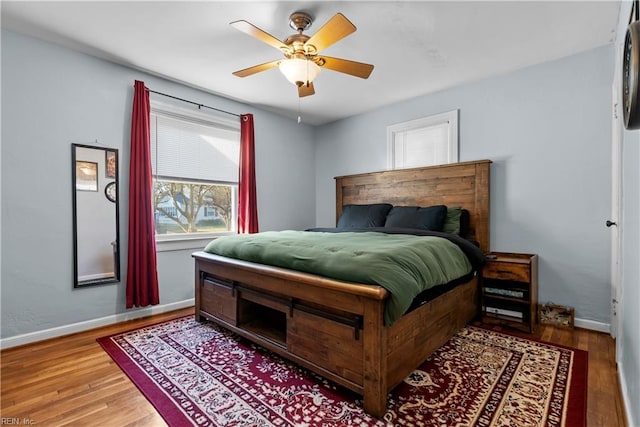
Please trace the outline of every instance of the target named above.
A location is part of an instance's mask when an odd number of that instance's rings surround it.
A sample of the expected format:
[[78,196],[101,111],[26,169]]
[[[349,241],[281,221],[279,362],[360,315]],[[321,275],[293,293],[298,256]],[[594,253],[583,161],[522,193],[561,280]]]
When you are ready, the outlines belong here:
[[[115,159],[115,177],[113,178],[113,182],[115,185],[115,255],[114,255],[114,275],[106,278],[92,279],[92,280],[78,280],[78,198],[77,198],[77,188],[76,188],[76,160],[77,159],[77,150],[79,148],[86,148],[92,150],[99,150],[104,152],[105,156],[105,167],[106,167],[106,155],[107,153],[113,153]],[[82,161],[82,159],[80,159]],[[118,149],[117,148],[109,148],[109,147],[97,147],[94,145],[85,145],[85,144],[71,144],[71,194],[72,194],[72,207],[73,207],[73,287],[74,288],[84,288],[87,286],[95,286],[95,285],[104,285],[109,283],[118,283],[120,282],[120,161],[118,159]],[[100,179],[98,179],[98,183]],[[103,197],[107,197],[111,200],[106,193],[106,185],[104,189],[97,188],[99,194],[102,194]]]

